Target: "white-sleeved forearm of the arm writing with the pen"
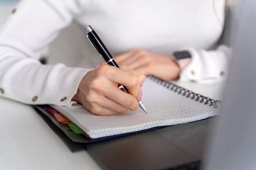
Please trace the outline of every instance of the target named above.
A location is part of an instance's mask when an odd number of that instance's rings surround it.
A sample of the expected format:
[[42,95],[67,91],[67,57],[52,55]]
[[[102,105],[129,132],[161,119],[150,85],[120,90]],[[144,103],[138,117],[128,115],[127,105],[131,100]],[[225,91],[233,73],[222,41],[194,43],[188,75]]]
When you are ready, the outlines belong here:
[[63,64],[42,65],[16,50],[0,47],[0,95],[22,103],[68,105],[87,71]]

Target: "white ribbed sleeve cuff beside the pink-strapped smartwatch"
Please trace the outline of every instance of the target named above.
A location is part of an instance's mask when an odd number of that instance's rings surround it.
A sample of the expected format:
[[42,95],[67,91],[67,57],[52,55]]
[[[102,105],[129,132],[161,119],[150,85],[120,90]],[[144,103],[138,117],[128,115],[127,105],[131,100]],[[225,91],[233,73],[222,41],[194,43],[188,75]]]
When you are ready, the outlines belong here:
[[231,49],[220,45],[216,50],[197,50],[183,47],[180,50],[189,51],[191,62],[180,73],[180,81],[216,81],[227,77],[231,57]]

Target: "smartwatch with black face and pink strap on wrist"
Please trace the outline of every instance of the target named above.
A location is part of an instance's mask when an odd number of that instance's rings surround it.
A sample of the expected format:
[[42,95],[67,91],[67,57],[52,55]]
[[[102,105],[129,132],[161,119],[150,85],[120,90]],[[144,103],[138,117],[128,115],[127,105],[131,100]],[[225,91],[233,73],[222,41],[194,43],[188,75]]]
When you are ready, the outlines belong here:
[[171,59],[180,67],[182,71],[191,61],[191,55],[189,51],[176,51],[173,53]]

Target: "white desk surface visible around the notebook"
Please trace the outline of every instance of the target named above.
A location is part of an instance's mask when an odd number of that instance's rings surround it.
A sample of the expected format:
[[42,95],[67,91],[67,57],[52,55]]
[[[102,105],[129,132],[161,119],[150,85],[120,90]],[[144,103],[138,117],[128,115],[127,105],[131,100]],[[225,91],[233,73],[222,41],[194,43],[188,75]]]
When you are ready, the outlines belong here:
[[[179,83],[213,99],[223,84]],[[0,97],[0,121],[0,170],[101,170],[88,152],[70,152],[31,106]]]

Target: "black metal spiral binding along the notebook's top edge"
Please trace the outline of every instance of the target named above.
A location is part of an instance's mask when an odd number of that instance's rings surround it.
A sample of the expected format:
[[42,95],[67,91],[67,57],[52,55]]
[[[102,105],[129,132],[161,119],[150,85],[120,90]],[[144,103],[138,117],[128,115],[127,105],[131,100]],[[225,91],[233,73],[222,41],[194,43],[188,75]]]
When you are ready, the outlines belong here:
[[193,91],[190,91],[186,88],[183,88],[181,86],[178,86],[176,84],[173,84],[171,82],[164,81],[162,79],[159,79],[153,75],[148,76],[150,79],[155,81],[158,84],[161,84],[162,86],[170,89],[171,91],[177,92],[178,94],[181,94],[186,97],[190,97],[191,99],[195,99],[195,101],[199,101],[200,103],[208,104],[209,106],[213,106],[214,108],[218,108],[218,106],[221,107],[222,101],[220,100],[213,100],[209,97],[205,97],[203,95],[194,93]]

